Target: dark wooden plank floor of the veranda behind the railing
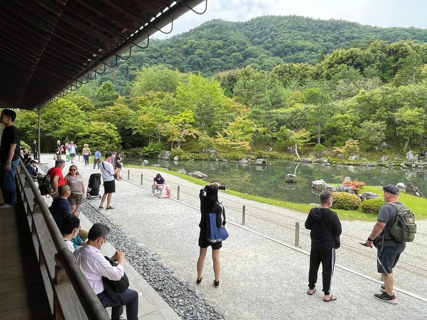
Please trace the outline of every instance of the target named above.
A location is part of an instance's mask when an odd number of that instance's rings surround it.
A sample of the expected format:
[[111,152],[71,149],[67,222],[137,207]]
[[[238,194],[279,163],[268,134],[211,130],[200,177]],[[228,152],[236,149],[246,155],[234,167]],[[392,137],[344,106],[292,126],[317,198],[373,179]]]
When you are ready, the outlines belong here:
[[15,207],[0,208],[0,319],[51,319],[24,212],[19,193]]

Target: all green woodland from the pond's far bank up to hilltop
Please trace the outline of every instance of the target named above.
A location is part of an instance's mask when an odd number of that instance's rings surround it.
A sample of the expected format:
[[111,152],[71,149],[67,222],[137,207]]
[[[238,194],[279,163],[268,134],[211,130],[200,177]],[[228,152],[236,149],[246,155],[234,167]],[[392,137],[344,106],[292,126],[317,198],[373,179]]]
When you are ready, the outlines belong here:
[[[68,138],[180,158],[210,147],[228,158],[310,144],[316,156],[424,149],[426,32],[295,16],[209,21],[43,108],[41,148]],[[36,118],[19,112],[24,141]]]

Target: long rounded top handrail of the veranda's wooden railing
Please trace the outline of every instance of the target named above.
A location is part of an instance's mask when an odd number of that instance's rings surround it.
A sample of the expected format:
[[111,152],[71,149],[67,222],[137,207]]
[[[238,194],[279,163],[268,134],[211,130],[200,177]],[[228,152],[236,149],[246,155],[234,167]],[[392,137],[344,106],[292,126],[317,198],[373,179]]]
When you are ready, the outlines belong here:
[[[93,320],[109,320],[109,315],[97,295],[93,291],[92,287],[89,285],[88,280],[80,269],[79,265],[74,258],[73,253],[67,248],[65,245],[64,237],[62,236],[55,219],[53,218],[51,212],[49,211],[49,207],[46,204],[43,196],[39,193],[38,186],[34,183],[32,176],[28,173],[27,168],[25,167],[23,161],[20,159],[21,172],[24,173],[26,182],[28,182],[28,186],[31,188],[32,193],[34,195],[35,205],[38,205],[44,221],[46,223],[46,227],[49,231],[50,238],[52,239],[53,244],[55,245],[57,254],[56,260],[59,261],[56,265],[57,269],[64,268],[65,272],[69,278],[70,283],[73,286],[79,301],[74,301],[74,303],[81,303],[84,312],[88,319]],[[19,171],[18,171],[19,172]],[[22,174],[22,173],[19,173]],[[26,185],[22,184],[20,178],[18,178],[18,182],[22,187],[26,187]],[[29,199],[26,199],[29,201]],[[28,206],[27,206],[28,207]],[[27,210],[27,208],[26,208]],[[29,212],[27,212],[29,214]],[[33,214],[33,212],[31,212]],[[31,226],[30,226],[31,227]],[[37,230],[36,230],[37,232]],[[46,233],[44,234],[46,236]],[[37,248],[36,248],[37,249]],[[50,257],[54,258],[54,257]],[[58,272],[55,272],[58,274]],[[51,282],[52,289],[55,293],[55,281]],[[64,282],[64,277],[61,277],[61,282]],[[60,295],[54,294],[57,298],[61,298]],[[61,307],[61,305],[66,305],[67,303],[73,301],[59,301],[60,303],[55,303],[55,307]],[[54,308],[55,309],[55,308]],[[70,312],[68,314],[67,312]],[[54,313],[56,310],[54,310]],[[55,318],[63,318],[63,319],[72,319],[75,317],[75,314],[71,314],[73,312],[73,308],[67,308],[67,310],[61,309],[57,314],[54,314]]]

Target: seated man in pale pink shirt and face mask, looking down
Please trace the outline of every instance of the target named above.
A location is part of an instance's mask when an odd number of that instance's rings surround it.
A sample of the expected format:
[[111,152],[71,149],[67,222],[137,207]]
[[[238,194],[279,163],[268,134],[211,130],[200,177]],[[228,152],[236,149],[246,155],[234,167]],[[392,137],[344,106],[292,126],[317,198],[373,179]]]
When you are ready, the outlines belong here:
[[138,320],[138,292],[127,288],[125,292],[115,292],[111,297],[105,290],[102,277],[110,280],[120,280],[125,274],[123,263],[125,253],[117,250],[111,257],[117,261],[117,266],[112,266],[101,253],[101,248],[107,243],[110,228],[104,223],[94,223],[88,233],[88,242],[74,250],[77,264],[88,279],[90,286],[100,299],[104,307],[112,307],[111,320],[120,319],[123,313],[123,304],[126,304],[126,315],[128,320]]

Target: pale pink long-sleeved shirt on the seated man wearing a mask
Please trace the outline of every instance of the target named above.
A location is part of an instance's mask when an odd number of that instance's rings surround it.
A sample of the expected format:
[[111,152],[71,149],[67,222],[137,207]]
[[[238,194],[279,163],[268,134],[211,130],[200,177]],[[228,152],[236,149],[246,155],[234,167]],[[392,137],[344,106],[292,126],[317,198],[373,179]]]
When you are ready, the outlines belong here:
[[73,253],[95,294],[104,291],[102,276],[110,280],[120,280],[125,274],[123,265],[112,266],[101,251],[90,244],[85,243],[77,247]]

